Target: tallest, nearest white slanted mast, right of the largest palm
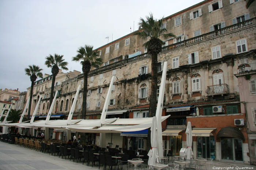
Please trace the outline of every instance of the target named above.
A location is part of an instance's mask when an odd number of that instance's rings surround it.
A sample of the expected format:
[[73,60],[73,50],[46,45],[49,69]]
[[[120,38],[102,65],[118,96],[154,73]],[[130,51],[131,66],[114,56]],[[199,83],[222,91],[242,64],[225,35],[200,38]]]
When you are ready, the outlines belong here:
[[162,116],[162,110],[163,110],[163,97],[165,95],[166,71],[167,71],[167,62],[164,62],[161,85],[160,85],[160,90],[159,90],[159,97],[158,97],[158,102],[157,102],[157,112],[155,114],[155,116],[157,118],[158,155],[159,155],[159,157],[163,157],[163,139],[162,139],[161,116]]

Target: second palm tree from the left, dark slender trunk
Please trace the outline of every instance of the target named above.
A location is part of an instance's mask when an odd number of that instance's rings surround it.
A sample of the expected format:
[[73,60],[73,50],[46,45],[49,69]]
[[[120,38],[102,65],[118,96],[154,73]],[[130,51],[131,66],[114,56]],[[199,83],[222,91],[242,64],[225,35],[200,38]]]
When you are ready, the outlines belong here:
[[59,67],[63,70],[68,70],[66,67],[68,65],[68,62],[64,62],[63,55],[54,54],[54,56],[49,55],[46,56],[45,65],[49,68],[52,68],[52,87],[51,87],[51,93],[50,93],[50,106],[52,104],[53,100],[53,91],[54,91],[54,84],[55,84],[55,78],[56,75],[59,73]]

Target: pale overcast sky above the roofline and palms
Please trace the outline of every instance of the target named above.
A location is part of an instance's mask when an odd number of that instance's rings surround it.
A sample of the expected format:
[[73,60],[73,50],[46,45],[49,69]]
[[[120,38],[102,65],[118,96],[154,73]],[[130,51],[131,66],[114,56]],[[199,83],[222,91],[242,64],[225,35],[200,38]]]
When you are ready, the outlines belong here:
[[[157,19],[203,0],[0,0],[0,88],[27,91],[31,86],[24,69],[35,64],[43,74],[49,54],[64,55],[69,71],[82,72],[72,62],[85,44],[94,49],[138,29],[149,12]],[[38,80],[38,79],[37,79]]]

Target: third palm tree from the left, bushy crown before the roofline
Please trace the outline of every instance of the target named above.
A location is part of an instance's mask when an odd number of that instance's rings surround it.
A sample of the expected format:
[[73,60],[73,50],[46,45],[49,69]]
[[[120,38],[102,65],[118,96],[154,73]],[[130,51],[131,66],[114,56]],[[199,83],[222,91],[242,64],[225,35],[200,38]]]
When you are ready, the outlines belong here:
[[97,58],[99,56],[99,52],[93,51],[93,46],[85,45],[84,47],[80,47],[76,52],[78,54],[72,58],[72,61],[76,61],[82,64],[83,71],[83,104],[82,104],[82,119],[85,119],[86,116],[86,99],[87,99],[87,77],[88,73],[91,70],[91,66],[95,68],[99,68],[102,63],[101,58]]

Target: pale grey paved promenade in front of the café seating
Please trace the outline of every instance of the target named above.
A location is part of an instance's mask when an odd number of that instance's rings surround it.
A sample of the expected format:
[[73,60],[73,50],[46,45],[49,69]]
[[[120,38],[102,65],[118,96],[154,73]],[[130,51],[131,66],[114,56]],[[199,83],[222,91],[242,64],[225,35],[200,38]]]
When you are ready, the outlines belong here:
[[[82,162],[73,162],[69,159],[61,159],[59,156],[49,155],[39,151],[20,147],[0,141],[0,170],[98,170],[98,166],[86,166]],[[107,167],[108,169],[108,167]],[[114,167],[113,167],[114,169]],[[256,166],[246,165],[244,163],[213,161],[210,168],[207,169],[255,169]],[[103,170],[101,166],[100,170]]]

